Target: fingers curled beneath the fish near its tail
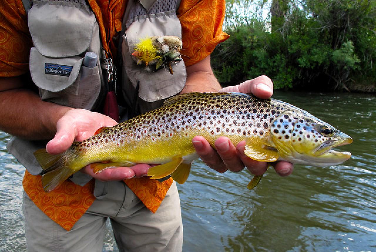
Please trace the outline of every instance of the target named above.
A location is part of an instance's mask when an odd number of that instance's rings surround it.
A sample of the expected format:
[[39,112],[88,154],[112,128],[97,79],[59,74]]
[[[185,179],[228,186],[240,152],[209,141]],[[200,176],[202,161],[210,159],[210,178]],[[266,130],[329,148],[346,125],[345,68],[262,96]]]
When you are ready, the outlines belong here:
[[101,181],[121,181],[133,177],[139,178],[147,175],[150,165],[136,164],[132,167],[116,167],[102,170],[100,173],[94,173],[92,165],[86,165],[81,171]]

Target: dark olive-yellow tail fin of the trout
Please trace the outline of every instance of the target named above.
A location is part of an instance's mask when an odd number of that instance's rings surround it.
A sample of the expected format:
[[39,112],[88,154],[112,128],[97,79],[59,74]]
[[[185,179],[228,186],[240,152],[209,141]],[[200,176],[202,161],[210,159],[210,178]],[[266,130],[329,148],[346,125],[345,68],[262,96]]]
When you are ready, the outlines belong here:
[[51,155],[45,149],[40,149],[34,152],[34,156],[43,169],[40,175],[46,192],[52,191],[76,172],[70,168],[67,152]]

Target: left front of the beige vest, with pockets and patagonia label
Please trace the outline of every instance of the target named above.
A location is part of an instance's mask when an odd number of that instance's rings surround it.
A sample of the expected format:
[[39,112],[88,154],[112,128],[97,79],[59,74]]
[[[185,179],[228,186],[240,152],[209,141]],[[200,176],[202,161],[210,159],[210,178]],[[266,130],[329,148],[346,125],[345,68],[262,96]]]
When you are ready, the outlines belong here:
[[86,5],[36,1],[28,13],[34,47],[30,73],[42,100],[92,109],[103,85],[98,64],[82,65],[87,51],[99,54],[99,29]]

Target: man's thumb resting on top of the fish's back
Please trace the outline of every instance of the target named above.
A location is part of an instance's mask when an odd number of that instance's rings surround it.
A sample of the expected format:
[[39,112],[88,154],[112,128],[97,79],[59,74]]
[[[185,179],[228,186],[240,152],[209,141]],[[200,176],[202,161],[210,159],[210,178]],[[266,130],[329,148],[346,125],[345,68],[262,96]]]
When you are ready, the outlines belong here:
[[269,77],[262,75],[252,80],[246,80],[239,85],[222,88],[220,92],[240,92],[267,99],[273,94],[273,82]]

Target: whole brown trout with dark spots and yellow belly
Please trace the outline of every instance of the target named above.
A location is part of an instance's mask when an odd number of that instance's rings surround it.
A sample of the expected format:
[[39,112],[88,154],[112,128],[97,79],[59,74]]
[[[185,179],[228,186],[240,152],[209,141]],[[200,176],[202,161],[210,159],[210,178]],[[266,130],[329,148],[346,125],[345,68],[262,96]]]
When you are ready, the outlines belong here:
[[[192,138],[201,135],[214,147],[218,137],[233,144],[246,141],[245,154],[257,161],[285,160],[314,166],[337,165],[349,152],[333,150],[352,138],[296,106],[242,93],[188,93],[166,100],[158,109],[111,128],[101,128],[62,154],[45,149],[34,155],[43,171],[42,184],[51,191],[85,165],[94,172],[139,163],[160,164],[149,169],[152,179],[172,178],[182,184],[191,162],[198,158]],[[248,188],[262,176],[255,176]]]

